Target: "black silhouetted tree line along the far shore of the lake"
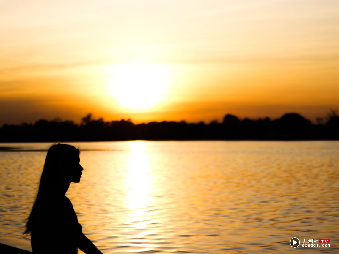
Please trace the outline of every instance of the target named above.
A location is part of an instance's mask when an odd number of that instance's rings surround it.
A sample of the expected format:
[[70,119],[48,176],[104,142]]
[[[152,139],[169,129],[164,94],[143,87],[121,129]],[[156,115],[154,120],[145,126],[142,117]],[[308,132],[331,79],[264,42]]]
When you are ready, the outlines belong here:
[[297,113],[281,118],[242,119],[226,114],[222,122],[162,121],[134,124],[130,119],[105,122],[88,113],[81,124],[39,120],[34,124],[4,124],[0,142],[122,141],[122,140],[338,140],[339,115],[331,110],[317,124]]

